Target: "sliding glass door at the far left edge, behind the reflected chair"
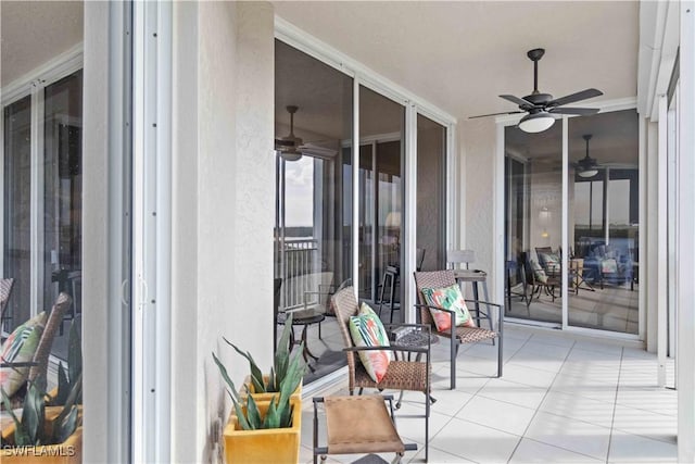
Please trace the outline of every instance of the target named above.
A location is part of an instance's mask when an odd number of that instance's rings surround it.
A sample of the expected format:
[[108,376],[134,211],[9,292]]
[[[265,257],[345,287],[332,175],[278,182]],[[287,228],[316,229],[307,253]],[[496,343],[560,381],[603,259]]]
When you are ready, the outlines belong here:
[[[1,328],[11,331],[73,298],[67,324],[81,315],[83,72],[45,83],[3,110],[3,261],[13,278]],[[52,354],[67,355],[63,324]]]

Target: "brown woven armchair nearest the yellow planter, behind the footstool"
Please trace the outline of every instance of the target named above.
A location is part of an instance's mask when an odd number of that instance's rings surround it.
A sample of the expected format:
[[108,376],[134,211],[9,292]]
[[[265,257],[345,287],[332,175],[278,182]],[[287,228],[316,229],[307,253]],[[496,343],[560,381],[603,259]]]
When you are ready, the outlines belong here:
[[[342,290],[336,292],[332,297],[333,308],[336,310],[336,318],[338,319],[338,326],[343,336],[345,354],[348,356],[348,390],[352,396],[355,388],[358,388],[358,393],[362,394],[365,388],[376,388],[379,391],[384,389],[393,390],[408,390],[408,391],[421,391],[425,393],[425,459],[428,457],[428,441],[429,441],[429,417],[430,417],[430,403],[432,399],[430,397],[430,330],[429,326],[421,324],[389,324],[386,325],[387,329],[393,330],[394,328],[405,327],[412,330],[422,330],[426,337],[426,344],[419,347],[404,347],[396,344],[397,341],[392,342],[391,347],[355,347],[350,335],[348,325],[350,317],[357,315],[359,312],[359,304],[355,298],[355,290],[353,287],[345,287]],[[389,363],[389,367],[384,377],[380,383],[376,383],[367,371],[362,365],[359,358],[356,356],[357,352],[363,350],[390,350],[395,353],[395,359]],[[410,361],[410,355],[415,354],[415,360]],[[396,409],[400,407],[400,402],[396,404]]]

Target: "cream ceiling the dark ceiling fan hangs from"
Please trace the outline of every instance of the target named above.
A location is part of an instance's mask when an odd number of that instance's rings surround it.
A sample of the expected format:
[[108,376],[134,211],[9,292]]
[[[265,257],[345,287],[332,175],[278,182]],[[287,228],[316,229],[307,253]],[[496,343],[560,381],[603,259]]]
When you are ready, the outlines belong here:
[[[278,16],[459,123],[472,115],[517,110],[497,96],[523,97],[533,90],[533,63],[526,54],[533,48],[546,50],[539,62],[542,92],[556,98],[590,87],[604,92],[582,106],[636,96],[636,1],[276,1],[274,5]],[[306,85],[301,66],[291,76],[294,81],[286,84],[294,92],[276,85],[278,117],[286,104],[299,104],[307,111],[298,113],[298,127],[303,121],[327,134],[330,129],[323,130],[321,125],[328,114],[311,111],[312,106],[320,111],[318,100],[327,93],[319,90],[321,79]],[[340,104],[344,111],[344,95]],[[583,147],[581,135],[577,137]],[[598,148],[601,137],[592,139],[594,143]]]

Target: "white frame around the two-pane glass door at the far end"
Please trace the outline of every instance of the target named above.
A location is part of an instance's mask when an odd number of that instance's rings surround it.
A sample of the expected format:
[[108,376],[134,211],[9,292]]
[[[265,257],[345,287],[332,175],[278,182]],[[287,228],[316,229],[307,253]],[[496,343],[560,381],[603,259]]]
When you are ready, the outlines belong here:
[[[609,102],[603,102],[599,104],[592,104],[592,106],[594,108],[599,108],[602,113],[608,113],[608,112],[614,112],[614,111],[622,111],[622,110],[634,110],[636,109],[636,99],[634,98],[629,98],[629,99],[620,99],[620,100],[614,100],[614,101],[609,101]],[[560,244],[563,247],[563,250],[569,250],[569,177],[567,175],[568,170],[569,170],[569,141],[568,141],[568,134],[569,134],[569,120],[571,117],[577,117],[577,116],[569,116],[569,115],[563,115],[561,118],[557,120],[555,124],[561,124],[563,125],[563,139],[561,139],[561,154],[563,154],[563,186],[561,186],[561,191],[563,191],[563,208],[561,208],[561,240],[560,240]],[[494,188],[494,208],[495,208],[495,220],[494,220],[494,226],[493,226],[493,234],[495,237],[495,246],[494,246],[494,265],[493,265],[493,278],[495,280],[495,285],[494,285],[494,293],[495,293],[495,299],[497,301],[506,301],[505,299],[505,276],[506,273],[504,272],[504,263],[505,263],[505,240],[506,240],[506,231],[505,231],[505,217],[506,217],[506,211],[505,211],[505,127],[507,126],[514,126],[517,125],[519,122],[520,117],[519,116],[501,116],[496,118],[496,125],[497,125],[497,137],[496,137],[496,158],[495,158],[495,165],[494,165],[494,178],[495,178],[495,188]],[[646,175],[646,170],[645,170],[645,163],[646,163],[646,151],[644,148],[644,145],[642,143],[643,141],[643,123],[640,124],[640,180],[643,179],[643,176]],[[646,183],[645,181],[641,181],[640,183],[640,228],[639,228],[639,234],[640,234],[640,247],[645,250],[644,246],[646,246],[646,243],[642,243],[642,241],[644,240],[644,236],[645,234],[643,234],[643,231],[645,230],[645,218],[646,218],[646,201],[645,201],[645,192],[646,192]],[[561,268],[567,269],[569,268],[569,256],[568,253],[563,253],[561,256]],[[642,272],[642,271],[641,271]],[[644,280],[642,280],[644,281]],[[611,331],[611,330],[604,330],[604,329],[595,329],[595,328],[586,328],[586,327],[578,327],[578,326],[573,326],[569,324],[569,304],[568,304],[568,285],[569,285],[569,277],[567,273],[563,273],[563,288],[561,288],[561,293],[560,293],[560,301],[561,301],[561,324],[551,324],[551,323],[542,323],[542,322],[536,322],[536,321],[531,321],[532,324],[538,325],[538,326],[545,326],[545,327],[556,327],[556,328],[561,328],[563,330],[569,331],[569,333],[578,333],[578,334],[586,334],[586,335],[592,335],[592,336],[602,336],[602,337],[609,337],[609,338],[619,338],[619,339],[627,339],[627,340],[645,340],[646,334],[645,334],[645,318],[646,318],[646,304],[645,304],[645,299],[644,296],[646,294],[645,291],[641,291],[640,292],[640,297],[639,297],[639,329],[637,329],[637,334],[624,334],[624,333],[618,333],[618,331]],[[529,324],[530,321],[528,319],[516,319],[513,317],[505,317],[505,319],[510,321],[510,322],[522,322],[525,324]]]

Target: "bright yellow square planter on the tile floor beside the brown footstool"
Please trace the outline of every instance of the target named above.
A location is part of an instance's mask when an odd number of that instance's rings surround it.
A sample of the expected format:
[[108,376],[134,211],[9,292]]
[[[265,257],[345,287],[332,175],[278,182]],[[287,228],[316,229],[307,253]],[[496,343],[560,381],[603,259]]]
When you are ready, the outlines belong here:
[[[242,430],[232,413],[224,432],[227,464],[295,464],[300,459],[302,403],[301,400],[290,400],[290,403],[292,426],[287,428]],[[265,416],[268,404],[268,401],[258,403],[262,416]]]

